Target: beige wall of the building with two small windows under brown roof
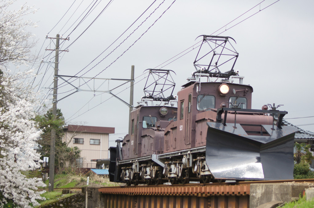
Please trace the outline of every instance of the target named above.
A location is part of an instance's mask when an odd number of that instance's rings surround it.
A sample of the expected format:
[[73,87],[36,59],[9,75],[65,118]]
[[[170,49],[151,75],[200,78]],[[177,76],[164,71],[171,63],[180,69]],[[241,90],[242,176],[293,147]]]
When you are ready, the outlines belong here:
[[[73,136],[74,134],[74,136]],[[83,142],[82,142],[83,138]],[[92,140],[91,140],[92,139]],[[98,140],[99,139],[99,140]],[[73,142],[75,141],[75,143]],[[98,141],[100,142],[98,144]],[[78,147],[81,151],[81,157],[84,159],[84,163],[91,162],[91,159],[107,159],[108,158],[108,133],[74,133],[66,131],[63,137],[63,142],[67,142],[68,147]]]

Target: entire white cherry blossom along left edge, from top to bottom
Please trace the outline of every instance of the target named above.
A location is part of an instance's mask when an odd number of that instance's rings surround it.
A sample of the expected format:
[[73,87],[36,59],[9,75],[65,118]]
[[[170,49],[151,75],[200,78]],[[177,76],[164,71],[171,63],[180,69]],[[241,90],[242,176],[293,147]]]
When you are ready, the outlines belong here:
[[41,178],[25,175],[37,171],[42,162],[35,150],[41,134],[34,111],[39,102],[24,83],[32,71],[10,73],[14,67],[9,64],[18,67],[32,61],[30,49],[35,42],[26,29],[35,24],[26,16],[34,9],[22,5],[10,10],[15,2],[0,0],[0,207],[8,201],[17,207],[32,207],[38,205],[36,200],[44,200],[37,187],[45,186]]

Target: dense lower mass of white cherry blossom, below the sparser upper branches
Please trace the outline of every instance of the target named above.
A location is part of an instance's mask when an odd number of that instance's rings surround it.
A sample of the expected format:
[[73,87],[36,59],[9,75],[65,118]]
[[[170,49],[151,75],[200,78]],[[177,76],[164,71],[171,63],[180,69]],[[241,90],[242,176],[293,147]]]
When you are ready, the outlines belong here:
[[[38,204],[44,199],[37,187],[44,186],[41,178],[28,178],[22,171],[40,168],[40,154],[35,150],[40,136],[34,121],[35,96],[21,81],[29,73],[0,77],[0,204],[13,200],[20,207]],[[24,88],[23,88],[24,87]],[[27,91],[28,96],[25,93]]]

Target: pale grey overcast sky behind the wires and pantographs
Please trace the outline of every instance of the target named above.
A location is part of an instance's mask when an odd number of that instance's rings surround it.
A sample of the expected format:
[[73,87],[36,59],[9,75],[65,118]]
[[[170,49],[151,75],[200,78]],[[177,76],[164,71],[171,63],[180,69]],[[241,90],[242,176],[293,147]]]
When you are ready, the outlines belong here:
[[[47,34],[48,37],[60,34],[63,38],[70,34],[70,40],[62,42],[61,50],[69,49],[69,52],[60,54],[59,74],[82,76],[86,73],[83,76],[130,79],[131,65],[135,65],[136,103],[144,95],[145,80],[142,79],[145,75],[142,74],[145,69],[156,67],[175,71],[173,79],[176,82],[176,92],[195,70],[193,61],[197,50],[192,50],[175,61],[167,60],[196,44],[201,40],[195,40],[199,35],[230,36],[236,40],[236,44],[232,44],[239,52],[235,69],[240,71],[241,76],[245,76],[244,84],[249,84],[254,89],[252,108],[261,109],[264,104],[275,103],[284,105],[279,109],[288,111],[285,118],[314,116],[314,1],[114,0],[101,13],[109,2],[27,1],[29,5],[38,8],[30,18],[39,25],[33,29],[38,38],[35,53],[39,54],[39,60],[54,61],[54,52],[51,55],[51,51],[45,51],[46,47],[54,47],[50,39],[46,39]],[[95,9],[78,25],[86,14],[84,10],[88,11],[89,5],[94,3],[97,5]],[[151,13],[153,14],[149,17]],[[140,18],[135,22],[138,17]],[[236,20],[231,22],[234,19]],[[139,25],[141,26],[138,27]],[[130,34],[132,35],[127,38]],[[116,40],[120,35],[122,36]],[[119,47],[115,49],[117,46]],[[96,65],[97,63],[99,64]],[[37,62],[34,68],[35,71],[39,69],[35,84],[39,84],[44,77],[40,88],[45,95],[49,90],[42,87],[51,88],[53,67],[42,63],[39,68]],[[63,81],[59,80],[61,83]],[[109,88],[122,83],[110,81]],[[78,80],[71,84],[79,85]],[[93,87],[93,81],[88,84]],[[73,87],[63,85],[58,89],[58,99],[73,92]],[[100,82],[96,82],[96,85],[100,85]],[[127,87],[129,83],[112,93],[129,102]],[[83,85],[81,89],[88,89],[88,86]],[[108,90],[108,82],[101,89]],[[66,91],[69,92],[65,93]],[[111,97],[108,93],[95,93],[94,96],[93,92],[80,91],[59,101],[57,107],[61,108],[68,124],[115,127],[116,134],[110,136],[110,140],[114,141],[124,137],[128,131],[129,108]],[[52,96],[48,98],[51,101]],[[95,107],[96,105],[98,106]],[[314,123],[314,117],[287,121],[295,125],[311,124]],[[314,125],[300,127],[314,132]]]

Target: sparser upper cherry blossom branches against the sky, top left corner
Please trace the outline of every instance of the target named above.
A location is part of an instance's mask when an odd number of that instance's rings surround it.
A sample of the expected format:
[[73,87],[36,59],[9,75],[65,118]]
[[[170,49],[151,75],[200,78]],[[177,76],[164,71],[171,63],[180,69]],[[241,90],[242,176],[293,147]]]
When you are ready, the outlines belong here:
[[37,25],[28,19],[36,10],[23,4],[12,10],[16,0],[0,0],[0,66],[27,64],[33,60],[30,49],[35,46],[35,35],[27,30]]

